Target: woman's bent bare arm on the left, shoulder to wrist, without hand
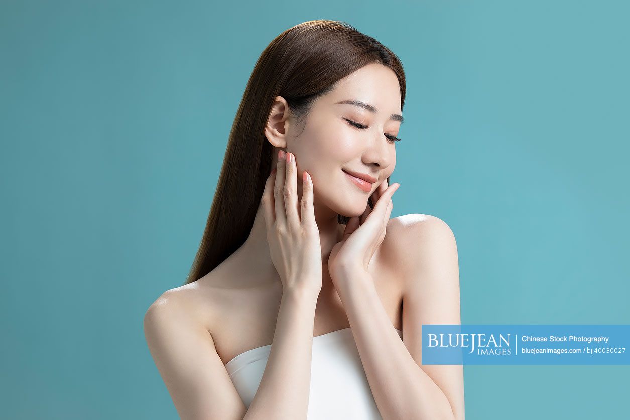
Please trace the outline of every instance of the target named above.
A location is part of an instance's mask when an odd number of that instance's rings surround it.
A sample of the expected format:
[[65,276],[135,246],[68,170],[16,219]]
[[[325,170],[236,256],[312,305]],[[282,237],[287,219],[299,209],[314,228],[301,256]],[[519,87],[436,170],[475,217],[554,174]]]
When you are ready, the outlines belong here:
[[202,322],[176,292],[146,312],[144,332],[175,408],[185,420],[306,419],[317,295],[282,294],[268,363],[247,409]]

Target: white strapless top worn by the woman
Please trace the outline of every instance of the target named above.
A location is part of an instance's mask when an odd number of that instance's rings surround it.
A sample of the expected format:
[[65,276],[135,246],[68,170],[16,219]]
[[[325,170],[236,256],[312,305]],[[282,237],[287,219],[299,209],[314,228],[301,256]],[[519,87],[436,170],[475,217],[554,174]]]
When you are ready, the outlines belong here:
[[[399,329],[398,335],[403,332]],[[226,364],[249,408],[265,372],[271,344],[248,350]],[[307,420],[382,420],[350,327],[313,337]]]

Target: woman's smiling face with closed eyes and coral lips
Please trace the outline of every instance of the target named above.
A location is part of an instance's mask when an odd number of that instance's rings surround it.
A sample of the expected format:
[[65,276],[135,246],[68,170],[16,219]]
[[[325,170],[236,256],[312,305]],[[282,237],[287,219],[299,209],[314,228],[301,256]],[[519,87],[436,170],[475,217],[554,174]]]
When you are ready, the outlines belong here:
[[[374,112],[343,101],[360,101]],[[369,64],[341,79],[314,103],[304,131],[293,125],[299,132],[287,135],[286,150],[297,162],[297,184],[301,186],[302,171],[307,171],[318,205],[348,217],[361,215],[369,196],[396,166],[396,140],[390,139],[398,136],[401,122],[392,114],[401,114],[401,104],[398,78],[391,69]],[[375,182],[360,186],[348,172]]]

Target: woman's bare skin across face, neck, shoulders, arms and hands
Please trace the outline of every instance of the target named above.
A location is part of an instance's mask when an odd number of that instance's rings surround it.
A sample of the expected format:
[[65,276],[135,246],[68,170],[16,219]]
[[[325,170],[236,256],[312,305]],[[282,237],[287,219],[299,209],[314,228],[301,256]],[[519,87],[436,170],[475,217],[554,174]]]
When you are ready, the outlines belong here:
[[[344,99],[378,111],[337,105]],[[288,153],[276,159],[247,241],[208,275],[164,292],[144,318],[182,419],[305,419],[312,337],[345,327],[384,420],[464,419],[462,366],[421,365],[421,324],[460,322],[457,247],[437,217],[389,219],[396,184],[386,178],[396,155],[384,133],[398,131],[393,112],[398,81],[379,64],[318,99],[304,130],[277,97],[265,135]],[[378,181],[366,193],[341,169]],[[338,225],[337,213],[353,219]],[[248,409],[224,365],[266,344],[268,363]]]

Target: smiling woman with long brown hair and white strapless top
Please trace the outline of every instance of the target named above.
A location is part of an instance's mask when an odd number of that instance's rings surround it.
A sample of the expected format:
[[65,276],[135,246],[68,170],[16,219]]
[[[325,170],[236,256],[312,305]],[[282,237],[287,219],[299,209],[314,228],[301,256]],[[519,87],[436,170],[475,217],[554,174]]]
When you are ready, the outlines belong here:
[[421,365],[421,324],[460,323],[454,235],[389,219],[404,96],[346,23],[261,54],[190,277],[144,318],[181,418],[464,419],[462,366]]

